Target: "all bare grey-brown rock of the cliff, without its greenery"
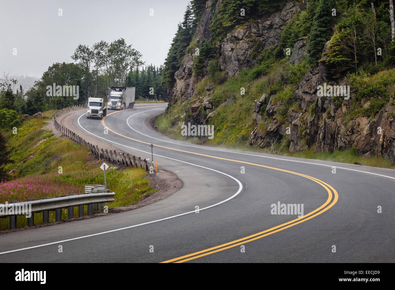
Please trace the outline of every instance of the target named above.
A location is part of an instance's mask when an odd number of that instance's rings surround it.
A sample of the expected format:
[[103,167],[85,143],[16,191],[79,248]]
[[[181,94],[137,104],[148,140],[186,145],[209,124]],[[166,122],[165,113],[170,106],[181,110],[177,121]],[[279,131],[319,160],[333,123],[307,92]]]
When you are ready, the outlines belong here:
[[[210,38],[209,24],[221,1],[211,9],[212,0],[207,1],[202,19],[197,30],[197,45],[201,40]],[[292,16],[304,9],[303,3],[289,2],[281,11],[263,15],[261,19],[249,22],[235,28],[227,34],[221,43],[217,43],[220,55],[220,67],[226,78],[239,74],[243,69],[257,64],[256,55],[267,47],[278,45],[282,31]],[[325,45],[324,51],[328,48]],[[305,59],[307,52],[307,37],[298,39],[292,50],[289,63],[294,65]],[[207,123],[215,116],[215,108],[211,100],[213,86],[205,88],[203,95],[195,94],[195,87],[201,78],[193,71],[194,56],[186,55],[179,70],[175,73],[176,84],[169,89],[168,110],[177,101],[190,101],[186,109],[184,123]],[[359,154],[365,156],[381,155],[391,160],[395,158],[395,123],[393,99],[380,110],[374,118],[359,117],[345,122],[346,112],[352,106],[350,99],[334,103],[330,96],[318,96],[317,87],[327,85],[343,86],[347,81],[332,79],[330,69],[323,63],[310,68],[303,80],[297,86],[293,96],[296,105],[288,113],[288,122],[279,122],[276,116],[279,104],[273,103],[273,95],[256,96],[254,108],[255,129],[250,133],[250,146],[267,147],[273,145],[273,140],[283,142],[289,140],[290,152],[315,148],[316,152],[333,152],[352,147],[357,148]],[[236,94],[236,92],[235,92]],[[191,99],[192,98],[192,99]],[[229,105],[235,100],[234,96],[218,107]],[[362,99],[361,106],[369,106],[369,99]],[[265,107],[265,110],[262,108]],[[265,118],[267,117],[267,118]],[[264,133],[258,130],[258,124],[265,120]],[[204,137],[201,137],[204,139]]]

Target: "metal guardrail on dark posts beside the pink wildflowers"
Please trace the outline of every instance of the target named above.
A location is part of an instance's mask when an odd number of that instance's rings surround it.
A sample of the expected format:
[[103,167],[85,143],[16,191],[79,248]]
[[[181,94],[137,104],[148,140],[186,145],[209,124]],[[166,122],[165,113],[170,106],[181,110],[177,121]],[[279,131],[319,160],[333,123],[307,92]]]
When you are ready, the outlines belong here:
[[[103,205],[106,202],[115,200],[115,193],[101,192],[101,193],[88,193],[88,194],[74,194],[68,196],[56,196],[52,198],[43,198],[40,200],[28,200],[26,202],[15,202],[11,204],[0,204],[0,218],[9,218],[9,228],[16,227],[16,218],[18,215],[27,215],[28,226],[34,225],[34,213],[43,212],[43,223],[49,223],[49,211],[55,211],[55,221],[61,221],[61,209],[68,209],[68,218],[74,217],[74,206],[78,206],[78,216],[84,215],[84,206],[88,206],[88,215],[93,214],[94,205]],[[96,208],[97,208],[96,206]],[[11,214],[9,209],[13,208]],[[26,211],[26,208],[28,210]]]

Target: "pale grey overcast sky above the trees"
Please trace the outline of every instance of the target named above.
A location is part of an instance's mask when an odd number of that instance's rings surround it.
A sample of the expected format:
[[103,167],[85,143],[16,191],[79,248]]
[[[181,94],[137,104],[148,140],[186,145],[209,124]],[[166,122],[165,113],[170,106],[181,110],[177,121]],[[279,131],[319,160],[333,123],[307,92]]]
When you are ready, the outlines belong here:
[[55,62],[73,62],[80,43],[119,38],[147,64],[163,64],[189,1],[0,0],[0,74],[41,77]]

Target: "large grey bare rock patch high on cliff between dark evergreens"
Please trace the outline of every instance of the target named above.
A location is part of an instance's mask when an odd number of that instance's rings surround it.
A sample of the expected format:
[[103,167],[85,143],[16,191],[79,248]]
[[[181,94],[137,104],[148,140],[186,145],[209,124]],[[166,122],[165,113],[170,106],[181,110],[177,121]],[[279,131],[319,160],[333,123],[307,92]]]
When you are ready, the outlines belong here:
[[[264,48],[278,45],[282,30],[292,16],[301,10],[299,2],[289,2],[282,11],[265,15],[262,19],[228,33],[222,43],[221,69],[232,77],[257,63],[254,55]],[[268,17],[269,16],[269,17]],[[268,18],[267,18],[268,17]],[[259,48],[258,48],[259,47]]]

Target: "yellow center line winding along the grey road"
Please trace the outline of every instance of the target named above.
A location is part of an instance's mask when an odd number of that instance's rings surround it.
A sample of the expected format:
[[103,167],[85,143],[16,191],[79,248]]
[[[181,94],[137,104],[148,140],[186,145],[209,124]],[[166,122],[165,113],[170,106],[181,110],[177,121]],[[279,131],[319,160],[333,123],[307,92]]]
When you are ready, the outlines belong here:
[[[163,106],[148,106],[148,107],[163,107]],[[147,108],[147,107],[139,107],[138,109],[140,109],[140,108]],[[134,108],[134,109],[137,109],[137,108]],[[133,109],[128,109],[128,110],[133,110]],[[111,114],[114,114],[114,113],[117,113],[117,112],[113,112]],[[109,116],[111,114],[108,114],[107,116]],[[104,123],[104,120],[105,120],[106,117],[104,117],[102,119],[102,124],[103,124],[104,127],[107,127],[105,125],[105,123]],[[115,132],[115,131],[111,130],[109,127],[107,127],[107,128],[111,132],[113,132],[113,133],[115,133],[115,134],[117,134],[119,136],[122,136],[124,138],[128,138],[130,140],[134,140],[136,142],[140,142],[140,143],[144,143],[144,144],[150,144],[148,142],[143,142],[143,141],[140,141],[140,140],[136,140],[134,138],[130,138],[130,137],[124,136],[124,135],[122,135],[122,134],[120,134],[118,132]],[[161,148],[166,148],[166,149],[169,149],[169,150],[175,150],[175,151],[179,151],[179,152],[190,153],[190,154],[195,154],[195,155],[201,155],[201,156],[215,158],[215,159],[221,159],[221,160],[226,160],[226,161],[232,161],[232,162],[237,162],[237,163],[254,165],[254,166],[258,166],[258,167],[264,167],[264,168],[278,170],[278,171],[282,171],[282,172],[286,172],[286,173],[290,173],[290,174],[295,174],[295,175],[307,178],[309,180],[312,180],[312,181],[318,183],[319,185],[324,187],[325,190],[328,193],[328,198],[325,201],[325,203],[322,204],[322,206],[320,206],[319,208],[316,208],[315,210],[307,213],[306,215],[304,215],[301,218],[293,219],[292,221],[289,221],[287,223],[283,223],[281,225],[274,226],[274,227],[269,228],[267,230],[264,230],[262,232],[258,232],[256,234],[252,234],[250,236],[246,236],[246,237],[241,238],[241,239],[236,239],[234,241],[230,241],[230,242],[224,243],[222,245],[211,247],[211,248],[208,248],[208,249],[205,249],[205,250],[202,250],[202,251],[198,251],[198,252],[195,252],[195,253],[192,253],[192,254],[187,254],[187,255],[184,255],[184,256],[180,256],[178,258],[174,258],[174,259],[171,259],[171,260],[166,260],[166,261],[164,261],[162,263],[171,263],[171,262],[182,263],[182,262],[194,260],[194,259],[197,259],[197,258],[200,258],[200,257],[203,257],[203,256],[207,256],[209,254],[214,254],[214,253],[217,253],[217,252],[220,252],[220,251],[224,251],[224,250],[230,249],[232,247],[237,247],[239,245],[242,245],[242,244],[245,244],[245,243],[249,243],[250,241],[255,241],[256,239],[261,239],[261,238],[263,238],[265,236],[269,236],[269,235],[274,234],[276,232],[280,232],[281,230],[285,230],[286,228],[290,228],[291,226],[295,226],[295,225],[297,225],[299,223],[303,223],[305,221],[308,221],[309,219],[312,219],[313,217],[316,217],[317,215],[320,215],[324,211],[329,210],[329,208],[331,208],[337,202],[337,200],[339,198],[339,195],[337,194],[337,191],[331,185],[329,185],[329,184],[325,183],[324,181],[319,180],[317,178],[308,176],[306,174],[301,174],[301,173],[298,173],[298,172],[293,172],[293,171],[289,171],[289,170],[284,170],[284,169],[280,169],[280,168],[265,166],[265,165],[256,164],[256,163],[250,163],[250,162],[246,162],[246,161],[240,161],[240,160],[222,158],[222,157],[206,155],[206,154],[201,154],[201,153],[196,153],[196,152],[190,152],[190,151],[170,148],[170,147],[166,147],[166,146],[160,146],[160,145],[155,145],[155,146],[161,147]]]

